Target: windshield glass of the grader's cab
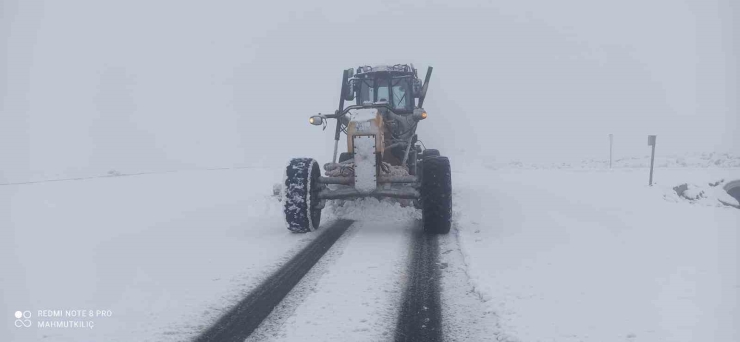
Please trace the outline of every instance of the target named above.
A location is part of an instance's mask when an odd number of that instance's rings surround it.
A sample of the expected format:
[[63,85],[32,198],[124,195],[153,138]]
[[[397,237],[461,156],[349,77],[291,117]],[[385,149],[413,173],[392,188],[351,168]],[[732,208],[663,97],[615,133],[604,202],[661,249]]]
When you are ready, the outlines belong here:
[[414,109],[413,97],[409,96],[409,77],[360,79],[357,104],[388,102],[394,111],[408,112]]

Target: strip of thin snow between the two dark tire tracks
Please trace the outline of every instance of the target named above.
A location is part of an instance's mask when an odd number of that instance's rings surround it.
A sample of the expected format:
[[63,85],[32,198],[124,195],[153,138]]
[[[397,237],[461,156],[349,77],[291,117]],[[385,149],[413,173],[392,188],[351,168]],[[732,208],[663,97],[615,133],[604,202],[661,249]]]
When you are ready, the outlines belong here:
[[392,341],[416,229],[357,221],[247,342]]

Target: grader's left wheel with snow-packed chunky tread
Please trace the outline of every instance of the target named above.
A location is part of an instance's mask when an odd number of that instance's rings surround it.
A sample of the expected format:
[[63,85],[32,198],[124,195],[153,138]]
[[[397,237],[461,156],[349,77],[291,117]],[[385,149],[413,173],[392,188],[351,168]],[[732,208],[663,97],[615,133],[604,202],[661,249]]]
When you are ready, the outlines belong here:
[[319,164],[311,158],[295,158],[285,168],[283,212],[288,230],[308,233],[321,223]]

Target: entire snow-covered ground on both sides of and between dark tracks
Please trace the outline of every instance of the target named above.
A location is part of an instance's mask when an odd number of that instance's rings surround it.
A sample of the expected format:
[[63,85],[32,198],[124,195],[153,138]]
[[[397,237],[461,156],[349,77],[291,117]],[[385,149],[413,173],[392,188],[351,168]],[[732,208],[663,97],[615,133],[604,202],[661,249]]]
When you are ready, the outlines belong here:
[[[673,188],[710,188],[740,179],[740,168],[659,168],[649,187],[645,168],[592,166],[453,169],[455,226],[441,250],[462,252],[442,256],[461,272],[442,282],[442,296],[454,302],[472,289],[469,311],[485,318],[445,329],[447,338],[739,340],[740,210]],[[36,321],[38,310],[112,311],[91,319],[93,329],[6,320],[0,340],[194,337],[316,236],[285,229],[271,197],[280,176],[235,169],[0,186],[3,312],[30,310]],[[256,337],[391,338],[419,215],[365,201],[328,209],[323,225],[338,217],[358,223]],[[474,313],[448,308],[443,321]]]

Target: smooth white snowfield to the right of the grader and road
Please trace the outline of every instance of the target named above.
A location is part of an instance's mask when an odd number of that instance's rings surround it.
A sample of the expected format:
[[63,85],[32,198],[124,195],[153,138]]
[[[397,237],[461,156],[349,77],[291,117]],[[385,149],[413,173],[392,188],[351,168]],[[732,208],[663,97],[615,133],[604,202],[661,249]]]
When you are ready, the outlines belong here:
[[723,178],[740,170],[656,170],[653,187],[629,169],[453,173],[455,232],[495,335],[737,341],[740,211],[663,198]]

